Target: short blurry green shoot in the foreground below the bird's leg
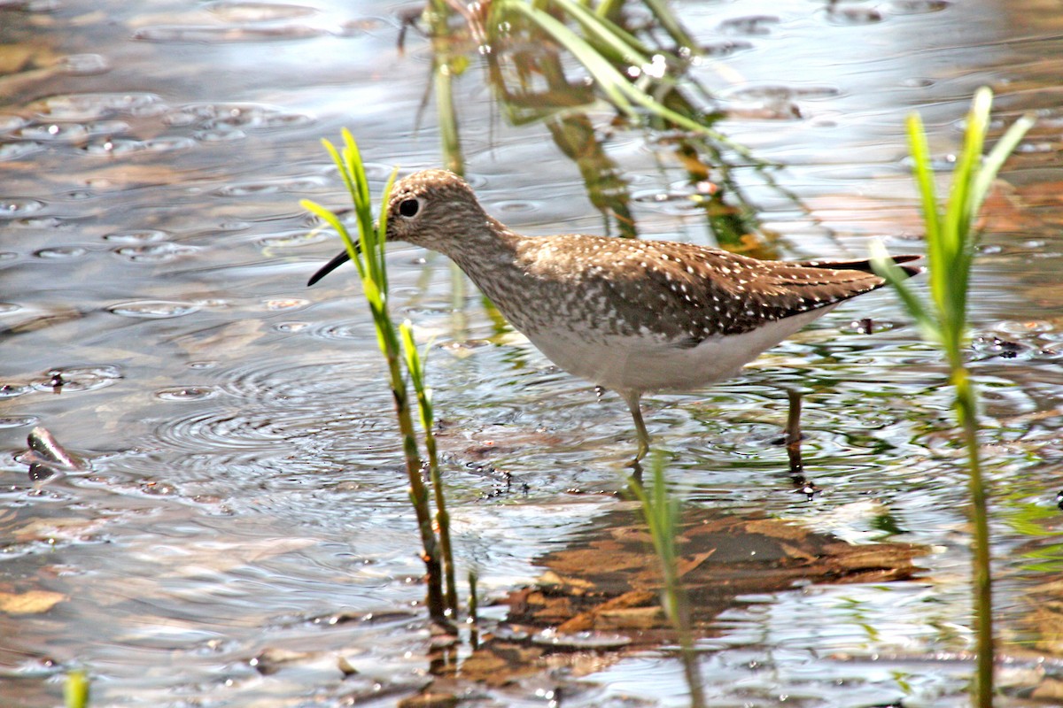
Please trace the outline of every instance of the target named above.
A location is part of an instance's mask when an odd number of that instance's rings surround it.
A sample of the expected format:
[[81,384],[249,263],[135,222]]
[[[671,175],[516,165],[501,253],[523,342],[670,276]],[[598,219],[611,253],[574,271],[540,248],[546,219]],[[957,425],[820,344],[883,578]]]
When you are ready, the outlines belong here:
[[664,465],[658,455],[653,464],[653,484],[648,491],[641,481],[631,478],[630,486],[635,496],[642,504],[642,515],[649,528],[654,551],[661,564],[661,576],[664,585],[661,588],[661,607],[664,616],[675,629],[679,643],[679,658],[682,671],[690,688],[691,708],[705,706],[705,688],[702,685],[702,673],[697,668],[697,654],[694,652],[694,638],[690,628],[690,602],[686,588],[679,582],[678,556],[675,548],[675,537],[679,531],[679,502],[668,491],[664,480]]

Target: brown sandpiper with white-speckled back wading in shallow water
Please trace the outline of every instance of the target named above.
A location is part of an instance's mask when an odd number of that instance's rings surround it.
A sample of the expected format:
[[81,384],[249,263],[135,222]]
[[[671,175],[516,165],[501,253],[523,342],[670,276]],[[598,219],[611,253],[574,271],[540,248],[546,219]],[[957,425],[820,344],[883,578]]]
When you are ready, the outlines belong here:
[[[638,431],[636,460],[649,446],[644,392],[728,378],[842,300],[884,284],[866,260],[765,261],[672,241],[521,236],[445,170],[395,183],[387,219],[388,240],[453,259],[551,361],[619,393]],[[309,284],[347,259],[344,251]]]

